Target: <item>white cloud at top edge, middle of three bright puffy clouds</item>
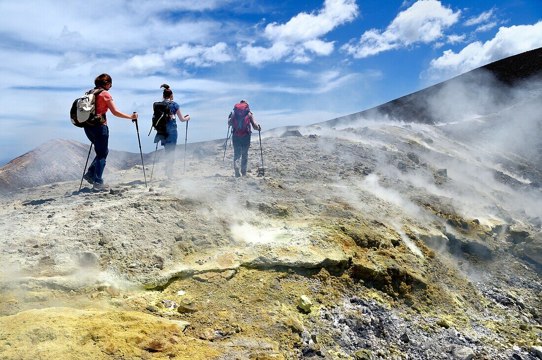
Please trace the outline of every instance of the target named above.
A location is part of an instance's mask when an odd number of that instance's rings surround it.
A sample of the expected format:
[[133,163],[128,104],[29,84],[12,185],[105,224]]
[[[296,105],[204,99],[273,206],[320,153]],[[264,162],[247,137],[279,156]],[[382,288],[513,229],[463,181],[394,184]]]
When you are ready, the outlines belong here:
[[460,14],[460,10],[454,12],[440,1],[418,0],[399,12],[386,30],[367,30],[359,41],[345,44],[342,49],[356,58],[363,58],[417,42],[431,43],[443,37],[443,30],[455,24]]

